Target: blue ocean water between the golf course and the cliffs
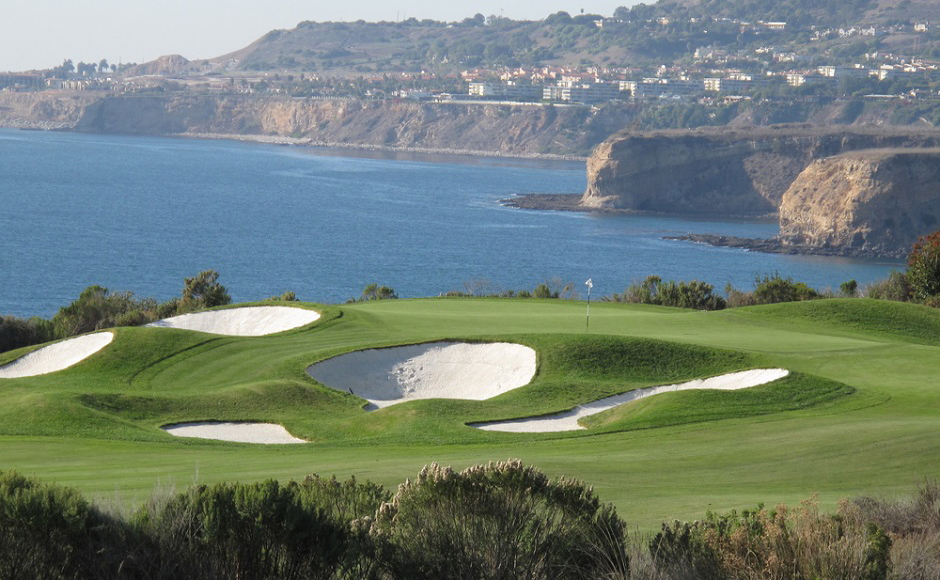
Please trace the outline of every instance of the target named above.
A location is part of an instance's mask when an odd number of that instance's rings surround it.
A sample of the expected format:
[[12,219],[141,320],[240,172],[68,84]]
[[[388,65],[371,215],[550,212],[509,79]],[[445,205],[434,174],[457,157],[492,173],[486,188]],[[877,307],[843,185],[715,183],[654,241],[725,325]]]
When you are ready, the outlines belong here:
[[49,316],[91,284],[164,300],[209,268],[236,301],[342,302],[370,282],[418,297],[592,278],[597,297],[649,274],[751,289],[779,272],[825,289],[901,267],[662,239],[768,237],[771,222],[500,204],[584,187],[583,163],[0,130],[0,314]]

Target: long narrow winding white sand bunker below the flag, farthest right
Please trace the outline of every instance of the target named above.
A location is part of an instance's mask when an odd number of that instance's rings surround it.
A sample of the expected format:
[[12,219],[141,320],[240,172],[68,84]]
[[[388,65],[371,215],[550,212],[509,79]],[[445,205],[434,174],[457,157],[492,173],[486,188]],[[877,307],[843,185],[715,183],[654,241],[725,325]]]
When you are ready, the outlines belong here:
[[790,371],[784,369],[756,369],[751,371],[741,371],[720,375],[708,379],[697,379],[678,385],[663,385],[660,387],[647,387],[645,389],[636,389],[622,395],[614,395],[605,399],[599,399],[593,403],[579,405],[570,411],[546,415],[543,417],[532,417],[529,419],[512,419],[509,421],[492,421],[488,423],[473,423],[470,426],[486,431],[509,431],[514,433],[550,433],[555,431],[576,431],[584,429],[578,425],[578,420],[583,417],[589,417],[613,409],[618,405],[652,397],[660,393],[671,393],[673,391],[686,391],[692,389],[716,389],[722,391],[734,391],[737,389],[746,389],[763,385],[790,374]]

